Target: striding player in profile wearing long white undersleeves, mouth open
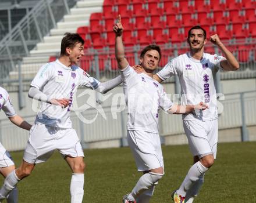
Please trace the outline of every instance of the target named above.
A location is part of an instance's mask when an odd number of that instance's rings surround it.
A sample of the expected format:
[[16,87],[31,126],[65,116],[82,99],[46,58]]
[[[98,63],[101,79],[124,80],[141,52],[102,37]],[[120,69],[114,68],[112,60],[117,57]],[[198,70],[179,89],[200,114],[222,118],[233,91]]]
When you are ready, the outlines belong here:
[[56,149],[73,172],[70,183],[71,202],[83,201],[84,153],[70,121],[73,96],[79,86],[106,93],[122,82],[120,76],[104,83],[90,77],[76,65],[83,55],[84,40],[79,34],[66,33],[61,42],[59,59],[42,66],[31,82],[29,97],[41,100],[41,108],[30,130],[23,162],[6,177],[0,190],[1,199],[20,180],[30,175],[35,164],[47,161]]

